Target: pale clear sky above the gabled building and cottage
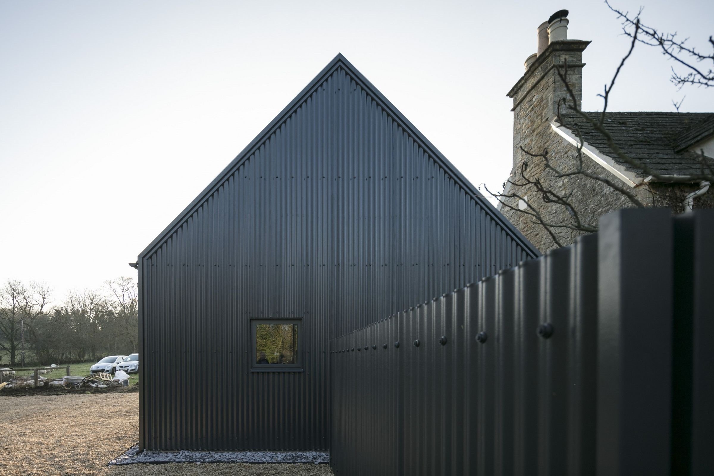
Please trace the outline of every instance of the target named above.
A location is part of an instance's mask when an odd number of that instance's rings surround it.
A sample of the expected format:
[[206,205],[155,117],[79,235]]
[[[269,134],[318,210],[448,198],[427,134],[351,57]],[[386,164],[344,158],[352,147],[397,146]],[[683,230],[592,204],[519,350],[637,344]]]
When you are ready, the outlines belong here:
[[[706,49],[710,0],[613,0]],[[570,10],[583,108],[629,40],[600,1],[0,1],[0,281],[70,288],[127,263],[341,52],[468,178],[511,170],[506,93]],[[710,51],[708,49],[707,51]],[[610,111],[714,111],[638,46]],[[404,78],[408,81],[404,81]]]

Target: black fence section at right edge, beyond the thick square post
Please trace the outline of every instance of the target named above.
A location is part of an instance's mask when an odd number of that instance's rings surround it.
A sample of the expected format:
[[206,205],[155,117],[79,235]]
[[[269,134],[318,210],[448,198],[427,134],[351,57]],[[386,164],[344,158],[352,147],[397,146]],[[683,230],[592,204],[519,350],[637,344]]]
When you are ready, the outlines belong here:
[[[708,213],[707,213],[708,212]],[[714,211],[675,220],[673,472],[714,474]]]

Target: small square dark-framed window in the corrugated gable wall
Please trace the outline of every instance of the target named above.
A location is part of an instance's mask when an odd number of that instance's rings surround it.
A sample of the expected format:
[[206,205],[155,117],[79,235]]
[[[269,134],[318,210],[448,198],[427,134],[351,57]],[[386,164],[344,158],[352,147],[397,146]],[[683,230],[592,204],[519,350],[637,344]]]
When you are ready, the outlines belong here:
[[301,319],[252,319],[251,370],[301,371]]

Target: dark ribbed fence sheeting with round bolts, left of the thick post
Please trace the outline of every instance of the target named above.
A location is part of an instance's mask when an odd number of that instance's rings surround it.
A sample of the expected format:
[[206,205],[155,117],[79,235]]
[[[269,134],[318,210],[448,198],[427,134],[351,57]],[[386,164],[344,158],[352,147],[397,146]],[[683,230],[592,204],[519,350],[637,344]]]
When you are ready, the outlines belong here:
[[[593,389],[578,384],[595,371],[594,308],[569,293],[596,283],[593,256],[580,238],[333,340],[336,474],[594,475]],[[540,338],[542,322],[557,334]]]

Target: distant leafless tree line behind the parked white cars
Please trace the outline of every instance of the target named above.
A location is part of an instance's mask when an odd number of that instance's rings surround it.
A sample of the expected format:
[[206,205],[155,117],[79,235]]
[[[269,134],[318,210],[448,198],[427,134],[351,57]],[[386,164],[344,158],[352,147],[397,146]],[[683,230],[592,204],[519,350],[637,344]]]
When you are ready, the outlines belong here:
[[73,290],[52,305],[47,285],[7,280],[0,288],[4,365],[47,365],[129,354],[139,347],[138,295],[131,278]]

